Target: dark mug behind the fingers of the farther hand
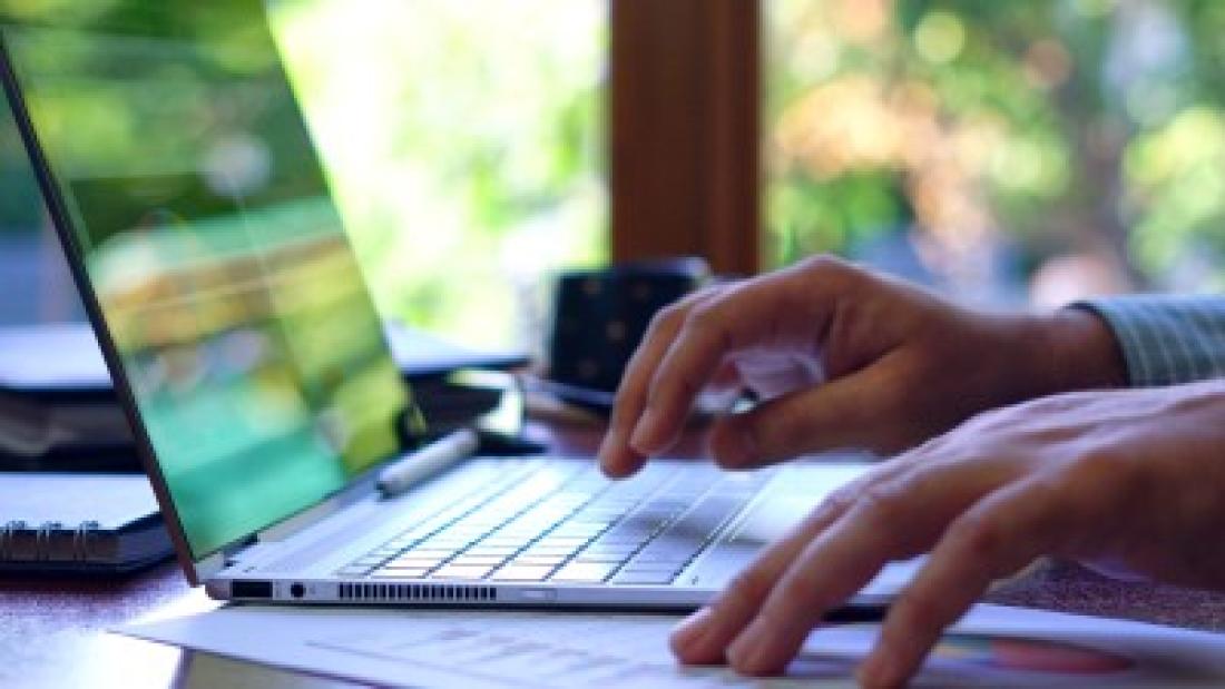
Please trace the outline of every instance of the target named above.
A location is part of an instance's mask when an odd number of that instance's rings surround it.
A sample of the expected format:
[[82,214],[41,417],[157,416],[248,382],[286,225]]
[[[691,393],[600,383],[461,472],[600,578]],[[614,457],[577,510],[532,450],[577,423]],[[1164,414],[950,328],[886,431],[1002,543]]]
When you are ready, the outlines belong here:
[[701,258],[624,263],[565,273],[557,281],[549,382],[562,399],[606,411],[650,319],[702,286]]

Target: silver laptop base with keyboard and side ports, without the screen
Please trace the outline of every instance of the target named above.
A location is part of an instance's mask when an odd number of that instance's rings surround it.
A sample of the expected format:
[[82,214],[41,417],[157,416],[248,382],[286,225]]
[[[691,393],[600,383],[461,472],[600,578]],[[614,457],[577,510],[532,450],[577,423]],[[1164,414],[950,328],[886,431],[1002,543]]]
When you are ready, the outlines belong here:
[[[325,516],[217,562],[207,586],[282,602],[690,608],[862,470],[657,461],[610,483],[589,459],[473,459],[394,499],[354,486]],[[886,570],[855,603],[886,605],[909,572]]]

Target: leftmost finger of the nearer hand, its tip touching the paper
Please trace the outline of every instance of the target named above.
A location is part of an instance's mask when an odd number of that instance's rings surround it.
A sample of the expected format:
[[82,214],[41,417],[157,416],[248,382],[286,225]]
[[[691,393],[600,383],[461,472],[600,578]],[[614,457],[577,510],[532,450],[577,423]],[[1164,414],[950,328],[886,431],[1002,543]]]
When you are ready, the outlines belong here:
[[771,590],[804,548],[846,513],[864,491],[910,471],[903,461],[883,464],[828,496],[785,537],[768,546],[707,607],[673,635],[673,651],[685,663],[723,662],[725,650],[761,609]]

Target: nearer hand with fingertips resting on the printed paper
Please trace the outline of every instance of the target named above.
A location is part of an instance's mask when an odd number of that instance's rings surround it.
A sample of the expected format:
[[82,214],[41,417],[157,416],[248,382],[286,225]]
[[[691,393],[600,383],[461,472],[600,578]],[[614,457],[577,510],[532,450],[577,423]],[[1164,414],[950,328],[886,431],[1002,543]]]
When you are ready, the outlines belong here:
[[782,672],[824,612],[930,552],[860,668],[904,684],[992,581],[1042,556],[1225,589],[1225,381],[980,415],[837,492],[673,635],[681,661]]

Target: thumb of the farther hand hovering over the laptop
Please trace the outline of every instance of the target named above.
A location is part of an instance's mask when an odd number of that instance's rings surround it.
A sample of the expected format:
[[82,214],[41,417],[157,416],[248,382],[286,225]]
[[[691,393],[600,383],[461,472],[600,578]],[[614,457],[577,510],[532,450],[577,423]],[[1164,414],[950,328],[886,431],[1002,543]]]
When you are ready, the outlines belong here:
[[725,469],[755,469],[822,450],[892,449],[898,423],[888,360],[824,385],[785,394],[723,416],[710,428],[710,454]]

